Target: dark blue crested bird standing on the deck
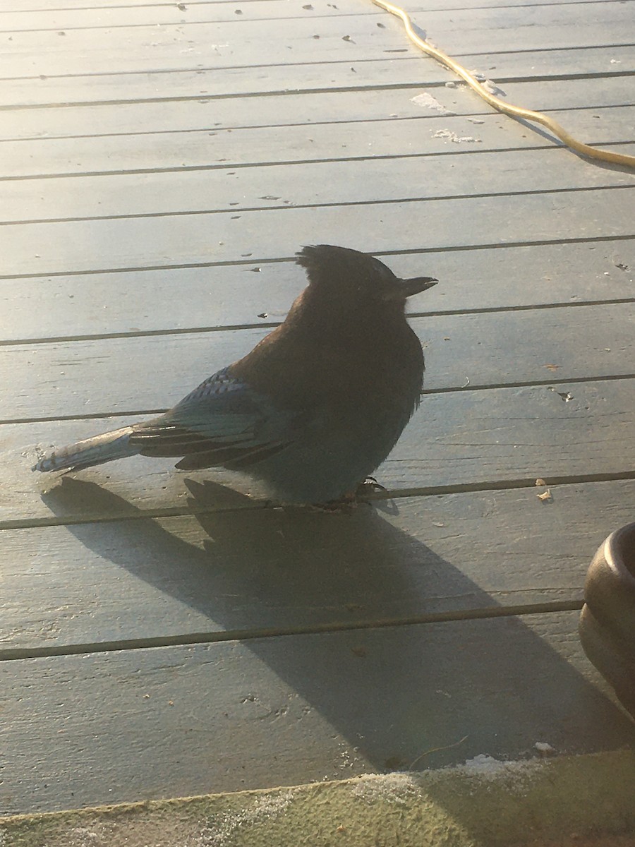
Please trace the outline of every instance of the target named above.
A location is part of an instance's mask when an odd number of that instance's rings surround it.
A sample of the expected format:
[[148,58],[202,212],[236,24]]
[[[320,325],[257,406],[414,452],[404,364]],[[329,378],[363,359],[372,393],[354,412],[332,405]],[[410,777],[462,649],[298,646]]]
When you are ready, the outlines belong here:
[[400,280],[345,247],[304,247],[309,285],[277,329],[158,418],[50,452],[34,470],[80,470],[141,453],[262,479],[293,503],[353,493],[417,407],[423,353],[406,297],[436,280]]

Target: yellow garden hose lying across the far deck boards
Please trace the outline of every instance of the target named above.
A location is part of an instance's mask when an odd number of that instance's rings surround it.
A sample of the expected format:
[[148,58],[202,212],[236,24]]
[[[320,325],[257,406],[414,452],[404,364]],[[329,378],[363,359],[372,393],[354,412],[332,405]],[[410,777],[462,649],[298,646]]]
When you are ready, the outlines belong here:
[[553,118],[549,118],[546,114],[533,112],[531,109],[520,108],[520,106],[512,106],[511,103],[503,102],[499,97],[494,97],[494,95],[490,94],[489,91],[476,79],[476,77],[463,68],[462,65],[455,62],[455,60],[450,58],[450,56],[446,56],[441,50],[438,50],[436,47],[432,47],[421,36],[417,36],[417,33],[412,27],[409,15],[402,8],[395,6],[393,3],[387,3],[387,0],[373,0],[373,3],[375,3],[376,6],[384,8],[386,12],[395,14],[398,18],[400,18],[403,21],[406,33],[408,34],[411,42],[414,42],[424,53],[428,53],[428,55],[433,56],[433,58],[435,58],[438,62],[444,64],[446,68],[450,68],[450,70],[453,70],[455,74],[461,76],[470,88],[473,88],[477,94],[483,97],[483,100],[489,102],[489,105],[498,109],[499,112],[509,114],[514,118],[532,120],[536,124],[546,126],[547,129],[560,138],[560,141],[563,141],[567,147],[571,147],[572,150],[582,153],[583,156],[601,159],[603,162],[625,165],[627,168],[635,168],[635,156],[628,156],[626,153],[610,152],[610,150],[599,150],[597,147],[591,147],[588,144],[583,144],[582,141],[577,141],[576,138],[569,135],[569,133],[561,127],[560,124],[558,124]]

